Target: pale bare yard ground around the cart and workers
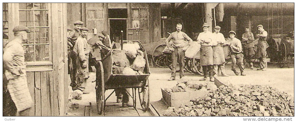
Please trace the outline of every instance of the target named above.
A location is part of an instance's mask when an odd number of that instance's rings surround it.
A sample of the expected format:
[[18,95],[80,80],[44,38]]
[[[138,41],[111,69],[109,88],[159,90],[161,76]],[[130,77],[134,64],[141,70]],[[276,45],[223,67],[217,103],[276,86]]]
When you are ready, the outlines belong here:
[[[280,91],[284,91],[292,96],[294,96],[294,66],[290,68],[279,68],[277,65],[268,64],[267,71],[257,71],[255,69],[245,69],[246,76],[236,76],[233,71],[231,71],[231,64],[228,63],[225,67],[226,73],[230,77],[217,77],[222,83],[226,85],[239,85],[239,84],[251,84],[251,85],[269,85],[271,87],[277,88]],[[176,85],[178,78],[178,73],[175,81],[167,81],[170,78],[170,69],[169,68],[154,68],[151,67],[151,75],[149,77],[149,92],[151,94],[150,101],[159,101],[162,98],[161,87],[173,87]],[[238,69],[239,70],[239,69]],[[199,81],[202,76],[196,75],[193,73],[185,72],[187,76],[186,80],[193,82],[209,82],[209,79],[206,81]],[[83,94],[82,100],[71,100],[69,101],[69,106],[71,104],[79,104],[77,110],[72,110],[69,108],[67,115],[69,116],[83,116],[84,106],[89,105],[89,102],[92,103],[92,116],[151,116],[148,112],[143,112],[139,105],[139,99],[137,98],[137,109],[133,107],[122,108],[121,104],[116,103],[116,96],[113,94],[110,96],[106,103],[105,114],[98,115],[96,110],[96,94],[95,94],[95,83],[91,81],[95,80],[95,72],[90,73],[90,78],[88,80],[89,84],[87,90],[90,91],[90,94]],[[70,81],[69,81],[70,83]],[[108,90],[105,93],[109,95],[112,90]],[[130,102],[132,99],[130,99]]]

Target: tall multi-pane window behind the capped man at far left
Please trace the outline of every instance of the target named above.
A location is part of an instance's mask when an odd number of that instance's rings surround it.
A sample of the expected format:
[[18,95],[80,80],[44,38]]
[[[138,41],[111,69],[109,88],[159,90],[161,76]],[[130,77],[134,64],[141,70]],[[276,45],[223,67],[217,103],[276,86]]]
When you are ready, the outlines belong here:
[[51,61],[48,3],[19,3],[19,24],[30,29],[23,42],[25,61]]

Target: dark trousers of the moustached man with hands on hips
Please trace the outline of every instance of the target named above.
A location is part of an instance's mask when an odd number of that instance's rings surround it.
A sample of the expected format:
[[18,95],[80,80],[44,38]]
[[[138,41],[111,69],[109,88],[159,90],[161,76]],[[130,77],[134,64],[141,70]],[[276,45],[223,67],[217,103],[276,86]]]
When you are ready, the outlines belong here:
[[174,48],[174,51],[171,52],[172,58],[172,70],[171,78],[175,79],[176,74],[176,64],[179,64],[179,77],[184,77],[184,58],[185,52],[181,50],[182,48]]

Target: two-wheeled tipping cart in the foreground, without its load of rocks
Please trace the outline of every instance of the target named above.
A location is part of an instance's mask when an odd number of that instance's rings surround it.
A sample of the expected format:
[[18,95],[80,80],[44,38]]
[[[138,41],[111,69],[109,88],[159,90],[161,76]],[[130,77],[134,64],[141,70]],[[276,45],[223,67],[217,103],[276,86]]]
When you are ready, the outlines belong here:
[[[122,75],[122,74],[113,74],[113,58],[112,51],[104,56],[101,60],[97,61],[99,63],[98,68],[100,68],[101,73],[101,81],[96,81],[96,101],[97,101],[97,109],[98,113],[101,115],[105,110],[106,100],[115,92],[113,92],[105,97],[105,91],[108,89],[116,89],[116,88],[132,88],[132,95],[129,96],[133,99],[133,107],[136,109],[136,92],[138,92],[140,105],[143,111],[148,110],[149,108],[149,62],[147,58],[146,50],[143,49],[142,44],[138,41],[140,45],[140,50],[144,53],[144,58],[146,59],[146,65],[143,71],[143,75]],[[123,43],[122,43],[123,44]],[[96,73],[97,74],[97,73]],[[100,77],[100,76],[97,76]]]

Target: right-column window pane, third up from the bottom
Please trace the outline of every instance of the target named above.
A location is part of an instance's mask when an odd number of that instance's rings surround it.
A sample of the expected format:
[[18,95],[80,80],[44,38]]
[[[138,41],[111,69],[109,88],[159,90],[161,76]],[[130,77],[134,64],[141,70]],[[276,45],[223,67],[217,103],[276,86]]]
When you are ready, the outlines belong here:
[[34,11],[35,27],[48,26],[48,11]]

